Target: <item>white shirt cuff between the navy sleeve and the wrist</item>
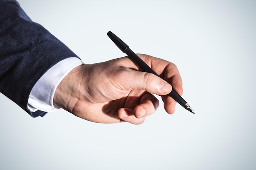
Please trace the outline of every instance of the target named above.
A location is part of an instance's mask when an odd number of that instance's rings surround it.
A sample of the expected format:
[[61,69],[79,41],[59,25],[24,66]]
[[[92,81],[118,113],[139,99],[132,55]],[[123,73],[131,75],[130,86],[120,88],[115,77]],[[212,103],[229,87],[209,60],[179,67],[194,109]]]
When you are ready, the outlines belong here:
[[32,88],[27,106],[29,110],[31,112],[36,112],[37,110],[45,112],[58,110],[59,108],[53,105],[56,88],[72,69],[81,64],[83,62],[79,58],[69,57],[52,66]]

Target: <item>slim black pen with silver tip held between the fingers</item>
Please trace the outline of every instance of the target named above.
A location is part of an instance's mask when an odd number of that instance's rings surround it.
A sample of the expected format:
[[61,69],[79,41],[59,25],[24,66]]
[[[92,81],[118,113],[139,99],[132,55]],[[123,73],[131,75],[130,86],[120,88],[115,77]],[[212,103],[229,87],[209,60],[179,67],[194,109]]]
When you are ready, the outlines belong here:
[[[153,73],[154,75],[157,75],[160,77],[155,71],[153,71],[150,66],[148,66],[141,58],[135,54],[128,45],[126,45],[120,38],[117,37],[114,33],[111,31],[108,31],[108,37],[118,46],[118,48],[126,53],[128,57],[134,61],[138,66],[147,73]],[[162,78],[162,77],[161,77]],[[192,108],[189,106],[189,104],[174,90],[172,89],[171,93],[168,94],[171,96],[176,102],[178,102],[181,106],[183,106],[186,110],[189,110],[191,113],[194,113]],[[194,113],[195,114],[195,113]]]

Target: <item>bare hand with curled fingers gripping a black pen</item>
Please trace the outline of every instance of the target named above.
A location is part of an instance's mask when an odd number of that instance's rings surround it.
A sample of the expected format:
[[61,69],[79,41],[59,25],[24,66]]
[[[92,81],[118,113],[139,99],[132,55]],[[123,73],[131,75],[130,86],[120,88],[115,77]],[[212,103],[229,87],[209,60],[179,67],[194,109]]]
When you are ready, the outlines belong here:
[[138,71],[138,66],[128,57],[83,64],[74,68],[58,85],[54,106],[88,121],[141,124],[159,106],[153,93],[162,96],[167,113],[174,113],[176,102],[167,94],[172,86],[180,95],[183,93],[177,67],[149,55],[139,54],[139,57],[166,81]]

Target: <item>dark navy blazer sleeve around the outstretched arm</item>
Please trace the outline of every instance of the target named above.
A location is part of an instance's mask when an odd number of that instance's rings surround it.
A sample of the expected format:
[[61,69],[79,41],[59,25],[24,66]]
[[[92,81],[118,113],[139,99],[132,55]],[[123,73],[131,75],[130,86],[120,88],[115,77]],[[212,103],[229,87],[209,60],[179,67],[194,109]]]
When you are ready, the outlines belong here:
[[[27,102],[38,79],[54,64],[77,57],[43,26],[32,22],[15,0],[0,0],[0,92],[32,117]],[[42,89],[43,90],[43,89]]]

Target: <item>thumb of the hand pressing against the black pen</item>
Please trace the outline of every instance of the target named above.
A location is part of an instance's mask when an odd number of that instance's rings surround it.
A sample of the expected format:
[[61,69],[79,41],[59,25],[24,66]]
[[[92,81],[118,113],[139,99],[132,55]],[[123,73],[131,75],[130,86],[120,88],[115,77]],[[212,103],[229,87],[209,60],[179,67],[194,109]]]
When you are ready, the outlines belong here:
[[127,88],[130,88],[129,90],[146,90],[156,95],[167,95],[172,90],[171,84],[152,73],[131,70],[128,74],[125,77],[125,84]]

